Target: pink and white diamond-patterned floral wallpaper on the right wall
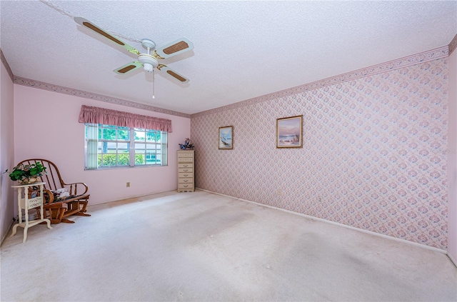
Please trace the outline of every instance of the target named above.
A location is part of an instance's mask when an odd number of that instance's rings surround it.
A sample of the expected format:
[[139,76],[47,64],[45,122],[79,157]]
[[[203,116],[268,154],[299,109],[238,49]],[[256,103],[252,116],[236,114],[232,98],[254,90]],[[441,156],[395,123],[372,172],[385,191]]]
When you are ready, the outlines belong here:
[[[446,249],[447,90],[443,58],[192,116],[196,186]],[[300,114],[303,149],[276,149]]]

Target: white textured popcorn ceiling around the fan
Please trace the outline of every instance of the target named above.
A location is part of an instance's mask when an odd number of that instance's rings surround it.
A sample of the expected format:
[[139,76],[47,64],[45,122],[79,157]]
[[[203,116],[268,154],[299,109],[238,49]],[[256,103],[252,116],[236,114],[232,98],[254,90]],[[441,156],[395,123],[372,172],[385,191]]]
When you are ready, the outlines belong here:
[[[194,114],[448,45],[457,1],[0,1],[0,47],[14,76]],[[62,14],[61,12],[66,12]],[[142,69],[82,28],[194,50],[162,60],[189,84]]]

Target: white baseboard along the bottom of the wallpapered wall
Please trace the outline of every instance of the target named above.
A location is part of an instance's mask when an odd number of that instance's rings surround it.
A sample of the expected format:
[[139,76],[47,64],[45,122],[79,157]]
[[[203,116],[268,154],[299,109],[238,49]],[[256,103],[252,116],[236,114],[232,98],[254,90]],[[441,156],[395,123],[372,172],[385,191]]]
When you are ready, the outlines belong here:
[[444,254],[449,256],[449,258],[451,259],[451,261],[453,261],[454,264],[456,264],[456,261],[454,261],[453,258],[451,258],[451,256],[448,254],[448,252],[446,250],[441,249],[441,248],[434,248],[433,246],[426,246],[425,244],[416,243],[416,242],[408,241],[408,240],[405,240],[405,239],[395,238],[395,237],[392,237],[392,236],[376,233],[376,232],[373,232],[373,231],[367,231],[367,230],[363,230],[361,228],[355,228],[353,226],[346,226],[346,224],[343,224],[343,223],[329,221],[329,220],[326,220],[326,219],[323,219],[323,218],[317,218],[317,217],[309,216],[309,215],[298,213],[298,212],[288,211],[288,210],[283,209],[283,208],[277,208],[276,206],[268,206],[268,205],[263,204],[263,203],[257,203],[255,201],[248,201],[246,199],[236,198],[236,197],[233,197],[233,196],[229,196],[229,195],[225,195],[225,194],[221,194],[221,193],[216,193],[216,192],[209,191],[209,190],[204,190],[203,188],[197,188],[197,189],[199,189],[201,191],[206,191],[206,192],[209,192],[209,193],[214,193],[214,194],[217,194],[217,195],[221,195],[221,196],[226,196],[226,197],[229,197],[229,198],[235,198],[235,199],[238,199],[240,201],[246,201],[246,202],[249,202],[249,203],[255,203],[258,206],[265,206],[267,208],[273,208],[275,210],[279,210],[279,211],[283,211],[283,212],[286,212],[286,213],[291,213],[291,214],[294,214],[294,215],[306,217],[306,218],[309,218],[309,219],[312,219],[312,220],[315,220],[315,221],[321,221],[321,222],[325,222],[325,223],[330,223],[330,224],[333,224],[334,226],[342,226],[343,228],[349,228],[349,229],[354,230],[354,231],[359,231],[359,232],[362,232],[362,233],[368,233],[368,234],[371,234],[371,235],[374,235],[374,236],[378,236],[378,237],[381,237],[381,238],[386,238],[386,239],[389,239],[389,240],[410,244],[412,246],[418,246],[420,248],[426,248],[426,249],[431,250],[431,251],[437,251],[437,252],[440,252],[440,253],[444,253]]

